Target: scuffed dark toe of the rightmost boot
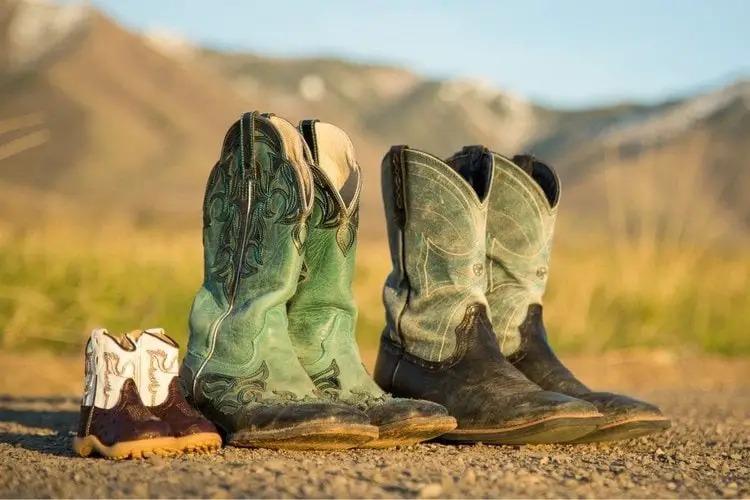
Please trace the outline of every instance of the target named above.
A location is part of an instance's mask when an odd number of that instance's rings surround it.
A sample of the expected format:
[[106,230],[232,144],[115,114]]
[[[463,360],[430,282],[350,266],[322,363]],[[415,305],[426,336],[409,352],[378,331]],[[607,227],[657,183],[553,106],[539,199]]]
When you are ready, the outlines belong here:
[[672,425],[657,406],[629,396],[590,392],[578,397],[596,405],[604,417],[595,432],[576,439],[576,443],[632,439],[664,431]]

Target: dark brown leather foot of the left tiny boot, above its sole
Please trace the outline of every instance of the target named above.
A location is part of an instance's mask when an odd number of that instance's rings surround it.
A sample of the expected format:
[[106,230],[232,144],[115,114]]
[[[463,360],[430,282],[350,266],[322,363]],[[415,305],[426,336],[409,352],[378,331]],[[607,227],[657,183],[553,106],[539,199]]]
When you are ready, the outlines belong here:
[[127,441],[171,437],[167,422],[154,417],[143,405],[132,378],[126,379],[110,408],[81,406],[78,437],[96,436],[105,446]]

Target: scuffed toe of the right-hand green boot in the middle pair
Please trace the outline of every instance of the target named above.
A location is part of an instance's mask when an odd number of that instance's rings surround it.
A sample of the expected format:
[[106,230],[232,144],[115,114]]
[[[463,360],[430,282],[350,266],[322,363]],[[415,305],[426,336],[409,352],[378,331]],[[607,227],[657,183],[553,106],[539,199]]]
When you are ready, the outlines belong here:
[[444,406],[419,399],[387,398],[367,410],[379,437],[363,448],[409,446],[436,438],[456,428]]

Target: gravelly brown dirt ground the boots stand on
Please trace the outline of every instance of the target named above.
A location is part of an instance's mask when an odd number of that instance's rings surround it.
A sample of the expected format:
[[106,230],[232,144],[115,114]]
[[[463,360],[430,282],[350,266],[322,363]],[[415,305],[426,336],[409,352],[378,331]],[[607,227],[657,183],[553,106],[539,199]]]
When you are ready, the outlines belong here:
[[750,360],[641,353],[569,364],[592,386],[662,405],[673,428],[615,445],[81,459],[70,448],[81,361],[0,353],[0,496],[750,497]]

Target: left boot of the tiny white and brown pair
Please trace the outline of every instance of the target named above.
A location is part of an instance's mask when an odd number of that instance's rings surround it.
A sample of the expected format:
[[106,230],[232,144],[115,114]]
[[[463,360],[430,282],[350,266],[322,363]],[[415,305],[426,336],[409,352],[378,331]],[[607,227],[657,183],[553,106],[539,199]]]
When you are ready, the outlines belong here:
[[73,439],[73,450],[80,456],[96,453],[122,459],[178,452],[169,424],[141,401],[134,380],[137,357],[130,339],[115,338],[103,328],[91,333],[78,434]]

